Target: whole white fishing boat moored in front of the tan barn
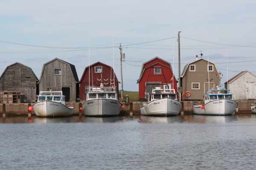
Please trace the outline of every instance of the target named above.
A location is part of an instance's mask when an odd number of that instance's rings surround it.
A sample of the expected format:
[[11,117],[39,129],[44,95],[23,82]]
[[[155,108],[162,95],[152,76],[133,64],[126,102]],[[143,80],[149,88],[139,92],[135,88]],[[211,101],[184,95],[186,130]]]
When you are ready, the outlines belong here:
[[198,115],[231,115],[238,111],[238,103],[232,99],[230,89],[208,90],[204,94],[204,105],[193,105],[194,114]]

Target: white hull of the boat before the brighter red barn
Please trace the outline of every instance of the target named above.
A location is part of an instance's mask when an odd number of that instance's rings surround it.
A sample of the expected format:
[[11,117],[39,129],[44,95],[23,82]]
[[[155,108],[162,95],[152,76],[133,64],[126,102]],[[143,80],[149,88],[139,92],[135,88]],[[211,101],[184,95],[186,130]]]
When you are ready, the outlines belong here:
[[140,108],[141,115],[176,116],[180,113],[181,103],[171,98],[157,99]]

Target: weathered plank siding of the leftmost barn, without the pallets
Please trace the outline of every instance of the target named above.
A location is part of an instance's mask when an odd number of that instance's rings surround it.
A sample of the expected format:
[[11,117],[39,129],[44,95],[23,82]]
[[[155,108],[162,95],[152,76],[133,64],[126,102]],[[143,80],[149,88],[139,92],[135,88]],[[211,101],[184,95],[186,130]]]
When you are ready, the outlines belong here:
[[38,79],[26,66],[15,63],[6,68],[0,78],[0,91],[16,91],[20,102],[35,102]]

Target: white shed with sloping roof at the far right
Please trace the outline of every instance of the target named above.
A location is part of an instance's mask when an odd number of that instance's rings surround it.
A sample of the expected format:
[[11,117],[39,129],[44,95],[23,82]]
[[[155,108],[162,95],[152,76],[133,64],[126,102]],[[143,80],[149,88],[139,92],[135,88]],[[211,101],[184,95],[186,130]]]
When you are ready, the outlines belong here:
[[231,90],[234,100],[256,99],[256,76],[242,71],[225,82],[225,88]]

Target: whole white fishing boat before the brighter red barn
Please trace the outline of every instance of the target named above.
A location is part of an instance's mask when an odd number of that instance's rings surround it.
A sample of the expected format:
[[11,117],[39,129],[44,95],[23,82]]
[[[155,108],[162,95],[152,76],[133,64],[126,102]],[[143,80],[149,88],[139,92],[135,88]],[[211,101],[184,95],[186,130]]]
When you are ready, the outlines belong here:
[[180,113],[181,102],[175,89],[153,88],[148,96],[148,103],[140,107],[140,114],[147,116],[176,116]]

